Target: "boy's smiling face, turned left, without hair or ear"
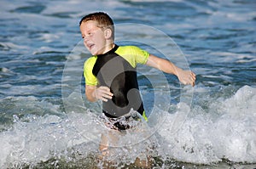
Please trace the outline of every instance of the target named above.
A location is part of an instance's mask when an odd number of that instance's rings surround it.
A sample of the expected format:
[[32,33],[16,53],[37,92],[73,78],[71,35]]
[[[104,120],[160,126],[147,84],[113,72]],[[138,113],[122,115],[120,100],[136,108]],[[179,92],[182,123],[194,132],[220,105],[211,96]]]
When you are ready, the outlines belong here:
[[105,31],[97,26],[97,22],[89,20],[80,25],[80,31],[84,39],[84,46],[90,51],[90,54],[104,54],[108,52]]

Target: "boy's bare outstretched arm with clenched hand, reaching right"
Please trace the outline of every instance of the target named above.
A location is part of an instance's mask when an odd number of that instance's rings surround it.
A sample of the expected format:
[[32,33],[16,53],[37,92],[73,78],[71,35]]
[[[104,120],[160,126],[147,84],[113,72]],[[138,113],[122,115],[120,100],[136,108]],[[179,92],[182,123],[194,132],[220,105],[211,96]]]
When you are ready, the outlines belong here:
[[195,73],[191,70],[183,70],[169,60],[161,59],[150,54],[146,65],[177,76],[178,80],[184,85],[190,84],[192,87],[195,86]]

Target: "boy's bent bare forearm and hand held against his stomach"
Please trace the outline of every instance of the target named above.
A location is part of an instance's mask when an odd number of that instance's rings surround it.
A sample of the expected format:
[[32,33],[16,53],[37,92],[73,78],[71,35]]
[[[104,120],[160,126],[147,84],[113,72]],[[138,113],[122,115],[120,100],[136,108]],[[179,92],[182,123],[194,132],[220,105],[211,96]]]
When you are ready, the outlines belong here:
[[97,99],[102,99],[102,101],[108,102],[108,99],[112,99],[113,93],[110,92],[108,87],[86,85],[85,95],[90,102],[96,102]]

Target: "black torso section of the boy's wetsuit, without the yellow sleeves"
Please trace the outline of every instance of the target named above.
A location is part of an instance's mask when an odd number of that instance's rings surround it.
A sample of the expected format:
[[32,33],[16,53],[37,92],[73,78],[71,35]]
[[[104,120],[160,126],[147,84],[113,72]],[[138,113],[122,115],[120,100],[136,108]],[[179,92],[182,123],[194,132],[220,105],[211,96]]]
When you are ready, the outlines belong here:
[[97,56],[92,73],[99,86],[109,87],[113,98],[102,103],[102,110],[109,117],[119,117],[137,110],[143,115],[143,102],[138,90],[137,71],[128,61],[115,54],[115,46],[107,54]]

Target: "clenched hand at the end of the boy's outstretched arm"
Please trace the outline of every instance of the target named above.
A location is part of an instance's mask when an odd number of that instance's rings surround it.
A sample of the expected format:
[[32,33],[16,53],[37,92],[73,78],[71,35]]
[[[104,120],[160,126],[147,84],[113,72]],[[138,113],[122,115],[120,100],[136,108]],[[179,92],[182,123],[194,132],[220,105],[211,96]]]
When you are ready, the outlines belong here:
[[195,86],[195,73],[190,70],[179,70],[177,72],[177,78],[179,82],[182,82],[184,85],[190,84],[192,87]]

